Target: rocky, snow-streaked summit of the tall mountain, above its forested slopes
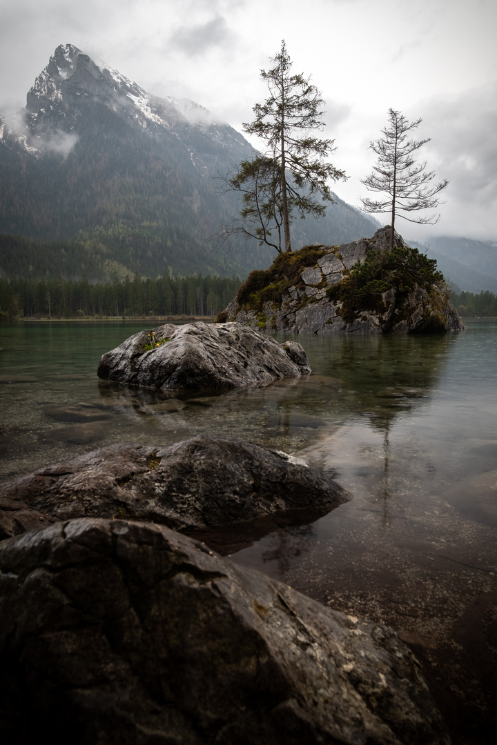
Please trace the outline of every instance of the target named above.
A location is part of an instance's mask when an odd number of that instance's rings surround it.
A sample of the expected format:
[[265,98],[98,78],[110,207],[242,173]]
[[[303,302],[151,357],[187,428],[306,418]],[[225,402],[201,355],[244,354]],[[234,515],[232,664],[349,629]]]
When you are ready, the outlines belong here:
[[66,158],[89,126],[127,126],[155,139],[172,137],[203,174],[210,168],[207,153],[212,145],[241,153],[251,150],[239,133],[194,101],[152,95],[73,44],[54,51],[16,121],[0,121],[0,141],[36,158],[45,153]]

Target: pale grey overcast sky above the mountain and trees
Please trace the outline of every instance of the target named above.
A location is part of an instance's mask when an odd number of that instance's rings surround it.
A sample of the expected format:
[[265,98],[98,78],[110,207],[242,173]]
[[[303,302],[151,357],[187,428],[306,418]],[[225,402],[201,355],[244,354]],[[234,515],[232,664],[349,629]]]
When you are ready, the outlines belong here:
[[399,232],[497,241],[496,32],[497,0],[0,0],[0,104],[24,106],[54,49],[71,43],[241,130],[285,39],[293,72],[326,101],[325,136],[349,176],[332,186],[339,196],[367,195],[368,145],[392,107],[422,117],[416,138],[431,142],[420,159],[450,180],[440,223],[399,220]]

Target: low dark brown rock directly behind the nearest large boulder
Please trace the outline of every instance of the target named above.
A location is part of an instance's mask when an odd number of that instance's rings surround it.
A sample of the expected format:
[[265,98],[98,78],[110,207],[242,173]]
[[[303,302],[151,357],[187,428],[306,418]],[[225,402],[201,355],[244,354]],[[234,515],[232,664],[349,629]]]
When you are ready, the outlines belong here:
[[326,514],[349,498],[305,461],[244,440],[118,444],[2,484],[0,538],[77,517],[126,517],[190,531],[285,513],[303,513],[306,522],[309,511]]

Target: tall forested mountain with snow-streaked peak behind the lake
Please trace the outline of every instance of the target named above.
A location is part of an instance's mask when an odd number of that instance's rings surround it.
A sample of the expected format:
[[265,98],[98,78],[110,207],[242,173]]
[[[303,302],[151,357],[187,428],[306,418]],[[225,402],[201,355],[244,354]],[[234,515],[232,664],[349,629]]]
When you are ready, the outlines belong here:
[[[20,123],[0,121],[0,273],[244,276],[267,267],[267,247],[254,242],[247,251],[242,241],[219,253],[207,242],[240,205],[234,192],[216,194],[216,175],[254,153],[198,104],[153,96],[60,45],[28,92]],[[298,244],[375,231],[375,221],[337,202],[323,221],[296,221]]]

